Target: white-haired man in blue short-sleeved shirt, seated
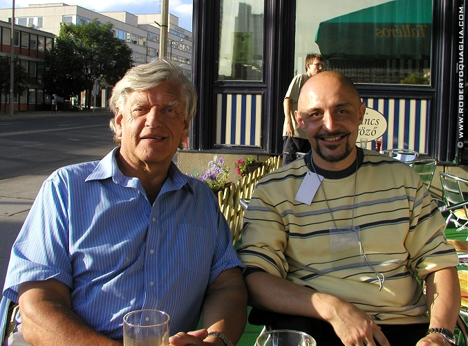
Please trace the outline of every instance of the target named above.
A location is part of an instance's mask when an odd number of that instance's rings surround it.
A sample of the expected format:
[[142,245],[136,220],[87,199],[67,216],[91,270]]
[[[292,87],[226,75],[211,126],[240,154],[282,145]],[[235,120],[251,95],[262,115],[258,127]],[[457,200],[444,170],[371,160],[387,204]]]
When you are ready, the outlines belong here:
[[156,60],[127,72],[110,107],[120,145],[46,179],[12,248],[3,295],[19,302],[27,343],[17,333],[10,345],[120,345],[139,309],[169,313],[172,345],[236,343],[243,264],[214,194],[172,163],[194,87]]

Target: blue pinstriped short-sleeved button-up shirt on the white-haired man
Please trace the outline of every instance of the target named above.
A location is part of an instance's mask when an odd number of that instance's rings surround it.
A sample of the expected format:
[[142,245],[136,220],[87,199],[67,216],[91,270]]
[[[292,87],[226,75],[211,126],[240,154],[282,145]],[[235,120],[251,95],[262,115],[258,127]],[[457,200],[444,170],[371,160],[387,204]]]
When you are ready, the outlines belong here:
[[3,295],[53,278],[71,288],[73,311],[93,329],[122,337],[136,309],[169,313],[170,333],[196,328],[207,286],[243,267],[230,228],[205,183],[174,163],[151,206],[124,176],[118,148],[102,161],[61,168],[42,185],[13,245]]

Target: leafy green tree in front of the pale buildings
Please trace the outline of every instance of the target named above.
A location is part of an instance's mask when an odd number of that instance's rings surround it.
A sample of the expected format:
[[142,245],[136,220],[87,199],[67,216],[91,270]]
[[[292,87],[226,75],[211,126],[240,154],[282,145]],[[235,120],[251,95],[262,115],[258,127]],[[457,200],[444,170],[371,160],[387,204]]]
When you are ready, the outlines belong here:
[[[61,24],[55,46],[46,55],[46,91],[66,98],[82,90],[91,95],[95,81],[115,84],[120,80],[132,66],[132,50],[114,36],[113,24],[97,19]],[[87,102],[86,107],[90,105]]]

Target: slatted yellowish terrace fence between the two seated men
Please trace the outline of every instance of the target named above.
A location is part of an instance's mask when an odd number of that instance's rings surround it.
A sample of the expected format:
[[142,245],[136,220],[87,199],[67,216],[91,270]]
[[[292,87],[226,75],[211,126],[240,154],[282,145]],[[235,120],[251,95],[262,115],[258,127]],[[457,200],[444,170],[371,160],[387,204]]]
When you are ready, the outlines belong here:
[[232,244],[236,244],[242,237],[242,219],[244,210],[239,199],[250,199],[254,187],[265,174],[276,170],[281,165],[281,156],[272,156],[257,168],[239,179],[236,183],[229,183],[218,192],[219,208],[231,228]]

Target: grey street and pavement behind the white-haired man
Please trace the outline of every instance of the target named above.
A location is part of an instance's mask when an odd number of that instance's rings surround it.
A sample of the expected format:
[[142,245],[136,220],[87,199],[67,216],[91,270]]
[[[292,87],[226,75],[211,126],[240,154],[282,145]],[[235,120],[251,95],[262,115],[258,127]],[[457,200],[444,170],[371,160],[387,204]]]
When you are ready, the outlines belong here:
[[111,113],[0,121],[0,286],[10,249],[41,183],[64,165],[95,161],[116,144]]

